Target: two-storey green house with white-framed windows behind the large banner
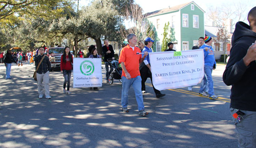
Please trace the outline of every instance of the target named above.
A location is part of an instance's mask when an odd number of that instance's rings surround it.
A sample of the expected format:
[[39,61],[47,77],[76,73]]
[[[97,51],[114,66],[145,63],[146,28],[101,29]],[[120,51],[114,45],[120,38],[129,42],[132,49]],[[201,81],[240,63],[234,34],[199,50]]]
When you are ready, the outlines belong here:
[[146,13],[147,19],[155,25],[160,39],[156,42],[154,50],[161,51],[163,28],[168,22],[175,31],[174,49],[176,51],[192,49],[198,44],[198,38],[204,37],[204,13],[194,1]]

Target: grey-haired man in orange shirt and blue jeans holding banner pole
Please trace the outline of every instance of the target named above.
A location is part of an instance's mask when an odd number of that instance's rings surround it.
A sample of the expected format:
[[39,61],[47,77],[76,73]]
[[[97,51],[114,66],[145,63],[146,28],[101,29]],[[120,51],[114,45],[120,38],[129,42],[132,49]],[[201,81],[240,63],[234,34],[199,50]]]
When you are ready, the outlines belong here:
[[148,52],[144,53],[141,58],[141,50],[136,47],[137,37],[135,34],[129,34],[127,36],[128,45],[125,46],[120,53],[119,62],[121,62],[122,67],[122,98],[121,105],[123,112],[128,111],[128,91],[130,86],[134,87],[135,98],[138,104],[138,110],[140,116],[145,116],[148,114],[144,110],[143,97],[141,93],[141,74],[139,70],[139,64],[148,56]]

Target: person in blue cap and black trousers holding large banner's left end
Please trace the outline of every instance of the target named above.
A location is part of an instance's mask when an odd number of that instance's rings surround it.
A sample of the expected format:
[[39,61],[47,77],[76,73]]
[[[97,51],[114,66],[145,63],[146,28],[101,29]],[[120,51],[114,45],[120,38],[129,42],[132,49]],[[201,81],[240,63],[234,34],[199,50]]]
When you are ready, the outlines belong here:
[[[142,50],[141,53],[144,52],[152,52],[152,44],[154,43],[154,40],[152,40],[150,37],[147,37],[145,40],[145,47]],[[142,54],[143,56],[144,54]],[[141,92],[142,93],[146,93],[146,86],[145,86],[145,82],[148,79],[148,77],[151,80],[154,92],[155,92],[155,97],[156,98],[161,98],[163,96],[165,96],[165,94],[162,94],[159,90],[155,89],[153,82],[152,82],[152,74],[151,74],[151,67],[150,67],[150,60],[149,60],[149,55],[145,57],[144,61],[141,63],[140,65],[140,73],[141,73]]]

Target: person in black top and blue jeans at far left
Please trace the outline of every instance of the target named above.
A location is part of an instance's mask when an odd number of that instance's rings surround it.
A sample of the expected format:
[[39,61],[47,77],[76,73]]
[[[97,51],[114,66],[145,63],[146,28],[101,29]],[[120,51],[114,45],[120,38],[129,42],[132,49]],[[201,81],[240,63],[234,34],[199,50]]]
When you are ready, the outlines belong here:
[[10,76],[12,62],[15,62],[17,64],[17,62],[14,60],[14,58],[13,58],[13,56],[11,54],[11,50],[8,49],[6,51],[5,56],[4,56],[4,63],[5,63],[5,67],[6,67],[6,79],[12,79],[12,77]]

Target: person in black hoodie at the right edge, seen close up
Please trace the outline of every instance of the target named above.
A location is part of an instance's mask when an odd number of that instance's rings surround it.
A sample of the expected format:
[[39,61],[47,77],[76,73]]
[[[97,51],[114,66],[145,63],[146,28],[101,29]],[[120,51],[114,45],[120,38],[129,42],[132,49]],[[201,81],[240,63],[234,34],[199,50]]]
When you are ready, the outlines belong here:
[[256,148],[256,7],[248,13],[249,25],[237,22],[223,81],[231,87],[230,112],[239,148]]

